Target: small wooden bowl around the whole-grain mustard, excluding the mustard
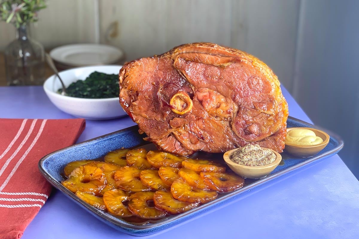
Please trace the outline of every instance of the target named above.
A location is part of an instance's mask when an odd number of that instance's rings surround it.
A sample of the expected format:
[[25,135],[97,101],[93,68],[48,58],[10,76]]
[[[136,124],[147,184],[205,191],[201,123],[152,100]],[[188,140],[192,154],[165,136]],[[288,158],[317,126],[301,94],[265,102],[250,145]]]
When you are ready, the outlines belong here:
[[[238,149],[238,148],[237,148]],[[273,163],[264,165],[264,166],[245,166],[241,164],[234,163],[232,160],[230,160],[230,157],[232,153],[237,150],[232,149],[223,154],[223,159],[227,163],[227,165],[232,169],[235,173],[237,173],[239,176],[246,177],[246,178],[263,178],[267,175],[269,175],[280,163],[282,160],[282,156],[275,152],[272,149],[271,150],[277,158]]]

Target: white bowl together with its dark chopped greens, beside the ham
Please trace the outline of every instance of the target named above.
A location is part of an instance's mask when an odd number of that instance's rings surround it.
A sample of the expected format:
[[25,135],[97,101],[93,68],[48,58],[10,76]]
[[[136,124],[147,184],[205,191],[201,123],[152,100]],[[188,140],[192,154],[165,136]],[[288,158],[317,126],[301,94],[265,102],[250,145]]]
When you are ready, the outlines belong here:
[[[75,117],[107,120],[126,116],[118,98],[118,72],[121,67],[105,65],[71,68],[59,72],[65,86],[69,86],[66,92],[69,94],[59,94],[62,92],[61,82],[55,75],[46,79],[43,89],[57,108]],[[84,81],[76,81],[78,79]]]

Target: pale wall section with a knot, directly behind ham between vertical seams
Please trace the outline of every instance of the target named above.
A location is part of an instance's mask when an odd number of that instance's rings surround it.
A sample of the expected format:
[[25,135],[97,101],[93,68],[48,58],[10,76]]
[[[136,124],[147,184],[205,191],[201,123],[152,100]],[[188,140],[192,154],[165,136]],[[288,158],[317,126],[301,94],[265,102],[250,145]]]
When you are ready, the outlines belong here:
[[214,42],[266,62],[292,90],[300,0],[100,1],[101,42],[127,60]]

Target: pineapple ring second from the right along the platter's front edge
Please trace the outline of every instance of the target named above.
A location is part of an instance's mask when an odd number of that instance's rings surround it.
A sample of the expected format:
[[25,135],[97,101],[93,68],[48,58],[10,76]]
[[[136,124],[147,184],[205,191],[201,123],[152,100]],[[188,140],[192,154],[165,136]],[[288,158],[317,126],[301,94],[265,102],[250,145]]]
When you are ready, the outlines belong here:
[[205,191],[196,187],[191,187],[183,178],[178,178],[172,183],[171,193],[175,199],[182,202],[206,203],[217,198],[216,191]]

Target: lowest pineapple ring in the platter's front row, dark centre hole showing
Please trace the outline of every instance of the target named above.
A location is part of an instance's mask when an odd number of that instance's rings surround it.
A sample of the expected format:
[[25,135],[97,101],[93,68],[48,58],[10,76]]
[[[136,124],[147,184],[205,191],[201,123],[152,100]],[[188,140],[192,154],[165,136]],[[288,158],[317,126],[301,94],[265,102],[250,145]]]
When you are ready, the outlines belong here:
[[130,211],[146,219],[163,218],[167,213],[151,207],[148,205],[148,201],[153,200],[154,192],[136,192],[130,196],[129,209]]

